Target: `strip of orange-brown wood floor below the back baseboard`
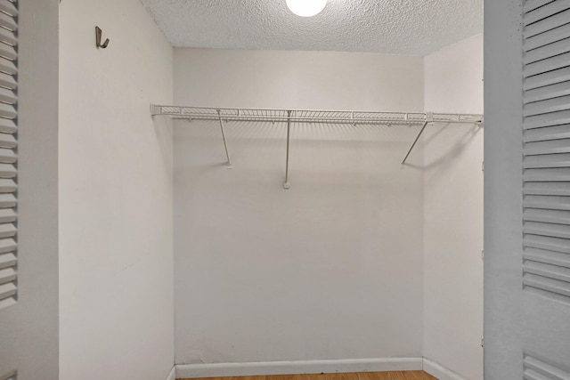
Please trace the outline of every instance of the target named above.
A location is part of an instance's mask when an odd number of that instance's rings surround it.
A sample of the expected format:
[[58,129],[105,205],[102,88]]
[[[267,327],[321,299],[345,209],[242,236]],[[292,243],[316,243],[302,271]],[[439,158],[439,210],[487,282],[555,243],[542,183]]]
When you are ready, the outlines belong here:
[[242,377],[209,377],[204,379],[178,380],[437,380],[424,371],[360,372],[351,374],[324,375],[273,375]]

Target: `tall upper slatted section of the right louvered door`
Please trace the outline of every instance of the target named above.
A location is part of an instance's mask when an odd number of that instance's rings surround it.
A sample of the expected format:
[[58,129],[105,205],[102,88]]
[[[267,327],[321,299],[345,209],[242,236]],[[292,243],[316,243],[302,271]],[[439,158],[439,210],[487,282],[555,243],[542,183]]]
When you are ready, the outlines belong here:
[[527,1],[523,20],[524,285],[570,305],[570,1]]

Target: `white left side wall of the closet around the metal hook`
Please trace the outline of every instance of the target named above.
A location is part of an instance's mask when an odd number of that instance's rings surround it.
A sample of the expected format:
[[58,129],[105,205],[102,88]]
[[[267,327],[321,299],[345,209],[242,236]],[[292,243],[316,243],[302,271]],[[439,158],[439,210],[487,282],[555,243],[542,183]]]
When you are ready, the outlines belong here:
[[172,368],[172,68],[138,0],[61,3],[61,380]]

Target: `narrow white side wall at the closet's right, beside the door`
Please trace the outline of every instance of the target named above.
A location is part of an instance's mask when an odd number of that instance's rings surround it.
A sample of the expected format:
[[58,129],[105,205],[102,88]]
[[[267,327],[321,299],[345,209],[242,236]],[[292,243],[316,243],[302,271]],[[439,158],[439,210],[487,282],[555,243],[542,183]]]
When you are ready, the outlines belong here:
[[[425,57],[426,109],[483,113],[483,36]],[[483,128],[424,140],[424,357],[483,379]]]

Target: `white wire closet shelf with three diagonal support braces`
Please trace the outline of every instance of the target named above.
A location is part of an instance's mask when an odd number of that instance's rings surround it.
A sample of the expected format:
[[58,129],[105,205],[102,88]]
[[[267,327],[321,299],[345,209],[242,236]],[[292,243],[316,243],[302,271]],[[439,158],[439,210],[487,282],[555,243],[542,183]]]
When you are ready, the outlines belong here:
[[237,109],[209,107],[181,107],[151,104],[151,116],[166,116],[173,119],[216,120],[224,141],[227,167],[232,168],[227,141],[225,140],[224,123],[229,121],[259,121],[287,123],[287,157],[285,161],[285,182],[283,187],[289,189],[289,143],[290,128],[293,123],[330,123],[352,125],[421,125],[418,136],[412,142],[410,150],[403,158],[402,165],[410,157],[411,151],[430,123],[437,124],[472,124],[483,126],[483,115],[433,112],[377,112],[352,110],[318,110],[318,109]]

